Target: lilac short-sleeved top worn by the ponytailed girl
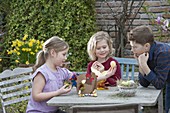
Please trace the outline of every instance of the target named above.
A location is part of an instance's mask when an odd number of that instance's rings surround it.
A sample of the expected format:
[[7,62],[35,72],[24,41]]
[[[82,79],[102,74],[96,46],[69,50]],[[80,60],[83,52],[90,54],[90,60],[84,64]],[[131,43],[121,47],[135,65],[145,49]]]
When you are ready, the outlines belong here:
[[[57,67],[56,72],[52,72],[46,64],[39,67],[34,73],[33,78],[37,75],[37,73],[41,73],[46,81],[43,92],[51,92],[56,91],[64,85],[64,81],[71,78],[72,72],[70,72],[66,68]],[[33,84],[34,85],[34,84]],[[48,100],[47,100],[48,101]],[[48,106],[47,101],[36,102],[32,98],[32,94],[30,96],[30,100],[27,105],[26,113],[53,113],[58,108],[56,106]]]

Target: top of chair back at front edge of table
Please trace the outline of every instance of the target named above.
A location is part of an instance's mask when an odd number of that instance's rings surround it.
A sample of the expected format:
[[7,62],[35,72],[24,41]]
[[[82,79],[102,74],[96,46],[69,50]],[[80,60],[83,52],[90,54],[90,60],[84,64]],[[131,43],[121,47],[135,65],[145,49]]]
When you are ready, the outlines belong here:
[[68,113],[138,113],[138,104],[79,105],[69,108]]

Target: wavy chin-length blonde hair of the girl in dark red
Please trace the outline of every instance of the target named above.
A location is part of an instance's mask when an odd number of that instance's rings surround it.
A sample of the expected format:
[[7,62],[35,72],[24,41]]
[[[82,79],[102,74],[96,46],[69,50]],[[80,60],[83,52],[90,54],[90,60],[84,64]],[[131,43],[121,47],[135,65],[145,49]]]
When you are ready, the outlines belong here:
[[111,56],[113,53],[111,37],[109,36],[107,32],[99,31],[90,38],[88,45],[87,45],[87,52],[92,61],[97,60],[97,57],[95,55],[95,50],[96,50],[97,42],[101,40],[106,40],[109,46],[109,55],[107,57]]

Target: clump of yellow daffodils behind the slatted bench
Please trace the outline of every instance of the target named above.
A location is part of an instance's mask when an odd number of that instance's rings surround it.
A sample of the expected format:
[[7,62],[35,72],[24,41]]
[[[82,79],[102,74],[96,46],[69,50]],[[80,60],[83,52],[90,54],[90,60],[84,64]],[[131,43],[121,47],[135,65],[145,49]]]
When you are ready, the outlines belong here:
[[36,53],[42,49],[42,44],[43,41],[29,39],[28,35],[25,35],[22,40],[12,41],[11,48],[7,50],[7,53],[17,64],[34,64]]

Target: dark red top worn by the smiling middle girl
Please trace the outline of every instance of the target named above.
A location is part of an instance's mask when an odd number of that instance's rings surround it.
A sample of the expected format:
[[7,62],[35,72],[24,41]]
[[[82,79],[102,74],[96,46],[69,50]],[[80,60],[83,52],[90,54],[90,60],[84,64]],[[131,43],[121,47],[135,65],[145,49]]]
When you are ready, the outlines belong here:
[[[105,83],[106,83],[106,85],[109,85],[109,86],[116,86],[116,81],[121,79],[121,68],[120,68],[119,63],[117,62],[117,60],[110,57],[106,62],[103,62],[102,65],[104,66],[104,70],[108,70],[110,68],[110,62],[111,61],[116,62],[117,70],[116,70],[114,75],[112,75],[112,76],[110,76],[109,78],[106,79]],[[87,74],[91,74],[91,66],[92,66],[93,62],[95,62],[95,61],[91,61],[91,62],[88,63]],[[107,84],[107,83],[109,83],[109,84]]]

